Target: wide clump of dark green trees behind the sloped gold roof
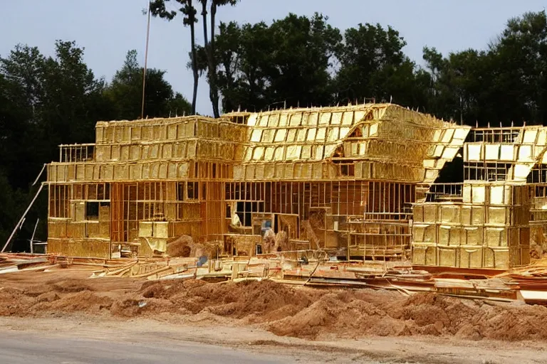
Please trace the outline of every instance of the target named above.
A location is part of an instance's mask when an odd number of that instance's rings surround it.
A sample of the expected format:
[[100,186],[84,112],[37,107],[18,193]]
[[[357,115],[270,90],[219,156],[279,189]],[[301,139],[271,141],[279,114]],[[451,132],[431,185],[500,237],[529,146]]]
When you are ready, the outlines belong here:
[[[342,36],[328,18],[289,14],[266,23],[221,23],[217,80],[224,111],[363,102],[424,105],[430,76],[402,52],[392,28],[360,24]],[[202,49],[199,69],[206,70]]]

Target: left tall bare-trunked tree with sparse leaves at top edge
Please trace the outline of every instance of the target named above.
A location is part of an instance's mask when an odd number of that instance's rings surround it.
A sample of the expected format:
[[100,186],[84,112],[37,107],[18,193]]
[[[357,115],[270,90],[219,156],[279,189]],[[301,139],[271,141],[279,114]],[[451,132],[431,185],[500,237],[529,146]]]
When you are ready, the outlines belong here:
[[[177,16],[176,11],[168,11],[165,4],[170,0],[152,0],[150,2],[150,11],[153,16],[159,16],[160,18],[167,19],[167,21],[172,21],[175,16]],[[196,53],[196,36],[194,24],[197,23],[196,14],[197,11],[192,4],[192,0],[174,0],[181,5],[179,12],[184,15],[182,18],[182,23],[184,26],[190,27],[190,45],[192,50],[191,54],[191,64],[192,64],[192,75],[194,76],[194,91],[192,94],[192,114],[196,114],[196,100],[197,100],[197,85],[199,81],[199,73],[197,69],[197,53]]]

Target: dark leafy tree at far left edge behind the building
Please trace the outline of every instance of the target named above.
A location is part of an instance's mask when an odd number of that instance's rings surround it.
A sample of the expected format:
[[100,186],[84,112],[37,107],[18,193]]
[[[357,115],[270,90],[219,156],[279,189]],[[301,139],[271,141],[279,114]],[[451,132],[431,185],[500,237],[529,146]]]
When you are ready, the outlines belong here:
[[17,45],[0,58],[0,75],[9,101],[2,102],[9,115],[4,163],[10,183],[26,189],[29,176],[58,156],[58,144],[93,140],[95,122],[104,115],[104,82],[83,63],[83,48],[62,41],[48,58],[38,48]]

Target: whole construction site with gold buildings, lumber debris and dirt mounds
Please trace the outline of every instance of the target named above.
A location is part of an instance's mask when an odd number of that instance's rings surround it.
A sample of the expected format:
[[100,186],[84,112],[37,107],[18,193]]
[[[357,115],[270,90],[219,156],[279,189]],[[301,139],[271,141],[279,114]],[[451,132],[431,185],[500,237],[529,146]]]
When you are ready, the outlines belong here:
[[546,338],[547,127],[368,103],[95,132],[45,167],[47,245],[0,256],[1,316]]

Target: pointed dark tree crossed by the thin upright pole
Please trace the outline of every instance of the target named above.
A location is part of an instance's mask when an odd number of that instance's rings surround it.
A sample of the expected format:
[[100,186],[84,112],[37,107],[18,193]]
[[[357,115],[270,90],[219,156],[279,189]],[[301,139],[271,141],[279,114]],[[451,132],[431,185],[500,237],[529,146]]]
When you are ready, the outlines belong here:
[[[118,70],[105,95],[113,107],[109,119],[138,119],[142,102],[143,68],[137,62],[137,51],[127,52],[125,62]],[[174,95],[171,85],[164,79],[165,71],[147,69],[145,83],[145,115],[147,117],[168,117],[170,114],[184,114],[191,111],[189,102],[182,95]]]

